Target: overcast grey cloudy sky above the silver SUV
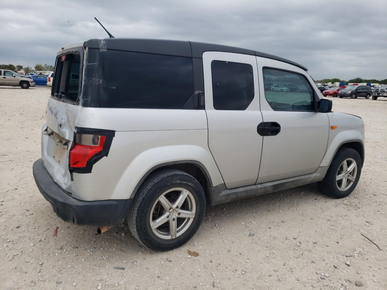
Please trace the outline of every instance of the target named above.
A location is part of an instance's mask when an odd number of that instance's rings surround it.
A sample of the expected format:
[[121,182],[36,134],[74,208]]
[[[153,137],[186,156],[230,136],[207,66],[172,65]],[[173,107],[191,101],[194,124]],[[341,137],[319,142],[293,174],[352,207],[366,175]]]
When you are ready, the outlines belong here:
[[387,0],[0,0],[0,63],[54,64],[66,43],[106,37],[239,46],[301,63],[316,80],[387,78]]

